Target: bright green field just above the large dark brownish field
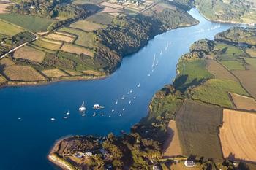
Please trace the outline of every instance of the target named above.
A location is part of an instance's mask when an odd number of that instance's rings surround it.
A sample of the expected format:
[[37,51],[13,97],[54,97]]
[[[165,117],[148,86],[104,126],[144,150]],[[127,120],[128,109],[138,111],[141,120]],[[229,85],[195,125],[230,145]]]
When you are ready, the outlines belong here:
[[217,104],[222,107],[233,108],[228,92],[238,93],[248,96],[246,90],[241,87],[239,82],[233,80],[211,79],[203,85],[192,90],[192,98],[205,101],[210,104]]

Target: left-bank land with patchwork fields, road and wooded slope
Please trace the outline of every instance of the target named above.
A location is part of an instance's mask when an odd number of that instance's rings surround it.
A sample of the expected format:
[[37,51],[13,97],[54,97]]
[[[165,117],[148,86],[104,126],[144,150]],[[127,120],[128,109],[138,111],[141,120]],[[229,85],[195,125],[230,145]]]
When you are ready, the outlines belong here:
[[[108,76],[157,34],[198,23],[175,1],[0,1],[0,85]],[[4,29],[2,29],[4,28]]]

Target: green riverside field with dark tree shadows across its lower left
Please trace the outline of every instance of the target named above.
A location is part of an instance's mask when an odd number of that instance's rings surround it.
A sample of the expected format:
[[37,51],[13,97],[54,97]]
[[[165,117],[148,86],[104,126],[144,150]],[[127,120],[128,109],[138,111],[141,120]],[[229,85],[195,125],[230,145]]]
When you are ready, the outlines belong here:
[[206,61],[200,59],[179,62],[178,72],[178,77],[173,85],[182,91],[191,85],[199,85],[203,80],[214,77],[207,71]]

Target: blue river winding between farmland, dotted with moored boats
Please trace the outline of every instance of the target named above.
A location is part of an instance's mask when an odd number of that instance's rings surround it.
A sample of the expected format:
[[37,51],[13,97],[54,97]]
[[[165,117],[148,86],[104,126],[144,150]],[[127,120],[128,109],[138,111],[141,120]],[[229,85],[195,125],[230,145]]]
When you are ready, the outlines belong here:
[[[154,93],[172,82],[178,58],[189,51],[189,45],[197,39],[213,39],[218,32],[233,26],[209,22],[195,9],[189,13],[200,20],[199,25],[155,36],[138,53],[124,58],[121,67],[104,80],[1,88],[0,170],[56,169],[47,160],[47,155],[61,136],[129,131],[131,125],[147,115]],[[132,93],[127,94],[129,90]],[[125,95],[124,100],[121,100],[122,95]],[[78,112],[83,101],[87,108],[84,117]],[[92,116],[94,104],[105,106],[95,117]],[[64,120],[68,109],[70,115]],[[51,121],[51,117],[56,120]]]

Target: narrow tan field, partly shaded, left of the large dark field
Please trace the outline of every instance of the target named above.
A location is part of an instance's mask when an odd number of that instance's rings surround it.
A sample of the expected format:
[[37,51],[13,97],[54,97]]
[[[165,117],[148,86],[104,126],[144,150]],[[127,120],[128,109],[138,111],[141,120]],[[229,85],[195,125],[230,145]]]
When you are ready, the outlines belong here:
[[178,138],[178,130],[176,126],[176,122],[174,120],[170,120],[167,128],[168,139],[164,144],[164,157],[173,157],[177,155],[182,155],[181,151],[181,143]]

